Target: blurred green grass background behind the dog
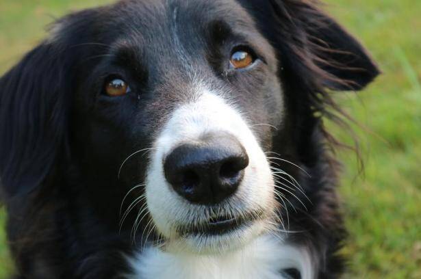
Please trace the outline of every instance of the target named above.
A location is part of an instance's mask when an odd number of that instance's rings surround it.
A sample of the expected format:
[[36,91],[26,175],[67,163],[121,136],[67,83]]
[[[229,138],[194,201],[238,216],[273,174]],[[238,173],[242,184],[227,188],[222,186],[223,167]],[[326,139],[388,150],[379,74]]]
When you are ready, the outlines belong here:
[[[0,75],[46,35],[44,26],[73,10],[110,0],[0,0]],[[350,238],[346,278],[421,278],[421,1],[329,0],[325,7],[370,49],[383,70],[358,95],[336,93],[361,125],[365,161],[341,151],[340,192]],[[329,125],[350,142],[346,131]],[[366,127],[363,129],[361,127]],[[0,211],[0,278],[13,267]]]

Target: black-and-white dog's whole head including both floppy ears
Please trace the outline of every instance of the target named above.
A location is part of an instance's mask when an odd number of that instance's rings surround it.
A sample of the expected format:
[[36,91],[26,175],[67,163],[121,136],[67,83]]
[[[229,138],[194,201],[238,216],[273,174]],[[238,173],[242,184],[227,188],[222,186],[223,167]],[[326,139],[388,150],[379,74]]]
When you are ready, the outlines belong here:
[[326,89],[359,90],[377,74],[312,1],[122,1],[71,14],[0,80],[3,192],[52,177],[49,187],[76,187],[62,182],[72,165],[99,218],[136,207],[142,237],[154,228],[173,247],[235,248],[289,204],[310,204],[298,167],[320,159]]

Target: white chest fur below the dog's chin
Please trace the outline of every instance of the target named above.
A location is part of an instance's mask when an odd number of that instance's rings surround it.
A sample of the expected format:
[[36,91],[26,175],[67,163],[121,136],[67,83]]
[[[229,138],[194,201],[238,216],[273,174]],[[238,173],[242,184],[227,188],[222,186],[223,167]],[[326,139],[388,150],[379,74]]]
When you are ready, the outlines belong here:
[[301,278],[313,278],[306,250],[262,236],[235,252],[220,255],[168,253],[148,248],[129,259],[132,279],[283,279],[281,269],[296,268]]

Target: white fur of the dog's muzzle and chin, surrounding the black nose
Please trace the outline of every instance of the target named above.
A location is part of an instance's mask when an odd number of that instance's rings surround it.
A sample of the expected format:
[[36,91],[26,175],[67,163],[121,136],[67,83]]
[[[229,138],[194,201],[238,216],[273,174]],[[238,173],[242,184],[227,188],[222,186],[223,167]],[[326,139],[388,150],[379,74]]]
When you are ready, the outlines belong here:
[[178,246],[183,246],[182,249],[193,252],[231,250],[260,235],[265,229],[264,222],[255,222],[252,226],[222,237],[181,238],[177,235],[177,226],[205,220],[209,215],[205,215],[205,206],[191,204],[179,196],[166,181],[164,158],[178,144],[197,140],[206,133],[225,132],[235,136],[248,154],[249,165],[244,170],[244,178],[238,191],[228,201],[220,204],[221,208],[233,213],[264,208],[270,215],[275,204],[272,174],[264,152],[240,112],[218,96],[218,92],[209,92],[200,87],[196,92],[194,101],[175,109],[157,137],[146,174],[146,202],[157,231],[169,241],[177,241]]

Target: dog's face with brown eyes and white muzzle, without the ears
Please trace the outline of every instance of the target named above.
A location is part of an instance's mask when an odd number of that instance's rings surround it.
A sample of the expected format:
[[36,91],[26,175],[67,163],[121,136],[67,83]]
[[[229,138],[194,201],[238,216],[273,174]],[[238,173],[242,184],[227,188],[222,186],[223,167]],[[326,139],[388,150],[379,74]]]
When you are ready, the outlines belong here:
[[264,154],[283,113],[274,49],[235,1],[129,8],[75,92],[84,163],[120,171],[125,191],[144,181],[170,241],[194,250],[248,241],[275,212]]

